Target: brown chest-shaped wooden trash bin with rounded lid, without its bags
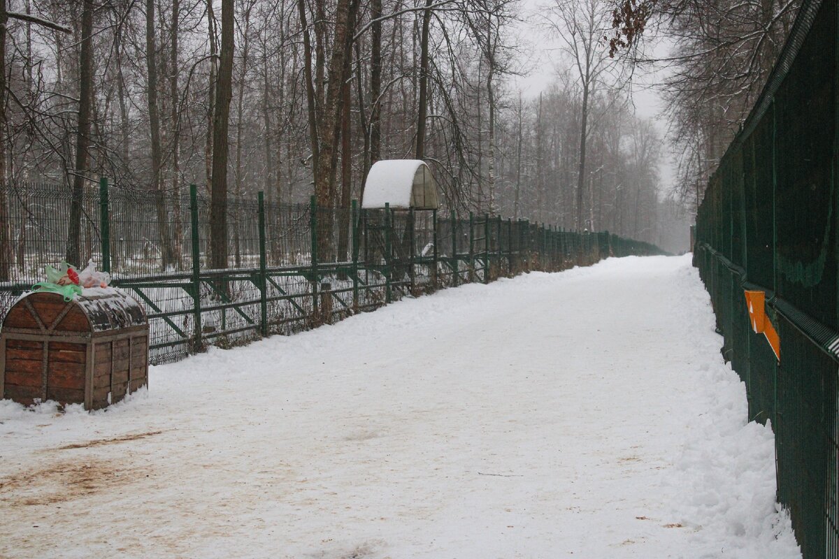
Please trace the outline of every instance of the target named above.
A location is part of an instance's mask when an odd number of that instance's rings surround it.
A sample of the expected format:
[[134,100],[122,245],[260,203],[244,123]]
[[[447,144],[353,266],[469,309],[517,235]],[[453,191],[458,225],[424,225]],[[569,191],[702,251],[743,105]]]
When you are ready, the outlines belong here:
[[149,322],[117,289],[86,290],[65,303],[32,292],[14,303],[0,329],[0,394],[24,405],[35,399],[95,410],[145,386]]

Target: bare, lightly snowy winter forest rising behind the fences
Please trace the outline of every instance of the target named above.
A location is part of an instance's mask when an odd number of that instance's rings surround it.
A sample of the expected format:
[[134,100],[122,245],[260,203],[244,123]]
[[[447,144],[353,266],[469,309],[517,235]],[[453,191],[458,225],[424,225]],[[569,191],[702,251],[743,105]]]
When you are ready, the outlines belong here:
[[[422,158],[447,209],[673,251],[686,248],[689,194],[698,198],[795,13],[794,3],[654,0],[629,2],[633,12],[550,0],[523,25],[519,0],[0,4],[0,186],[63,184],[81,199],[104,175],[177,199],[196,183],[221,245],[227,199],[263,190],[269,201],[314,194],[347,207],[373,162]],[[743,34],[749,25],[758,31]],[[663,138],[634,116],[629,94],[649,62],[644,26],[680,39],[664,61],[681,149],[672,190],[659,179]],[[621,40],[610,53],[613,29]],[[524,97],[511,78],[549,36],[561,47],[555,81]],[[69,211],[72,224],[81,204]],[[0,245],[16,234],[0,228]],[[69,242],[71,260],[77,251]]]

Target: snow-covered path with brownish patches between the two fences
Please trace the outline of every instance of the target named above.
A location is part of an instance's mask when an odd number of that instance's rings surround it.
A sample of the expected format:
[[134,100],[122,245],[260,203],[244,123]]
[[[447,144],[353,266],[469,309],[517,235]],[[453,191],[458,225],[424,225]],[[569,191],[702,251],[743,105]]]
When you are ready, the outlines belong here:
[[798,557],[689,257],[405,300],[0,402],[0,556]]

